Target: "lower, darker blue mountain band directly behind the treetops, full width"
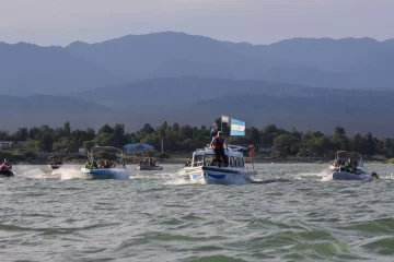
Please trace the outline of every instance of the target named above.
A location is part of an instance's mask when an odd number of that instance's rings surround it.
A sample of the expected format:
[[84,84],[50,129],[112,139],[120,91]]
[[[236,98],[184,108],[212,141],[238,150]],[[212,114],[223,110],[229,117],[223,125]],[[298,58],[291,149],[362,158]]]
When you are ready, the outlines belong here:
[[[372,131],[392,135],[387,111],[394,92],[313,88],[256,80],[169,78],[101,87],[73,96],[0,96],[0,110],[11,121],[0,129],[37,124],[73,128],[125,123],[128,130],[163,121],[209,126],[229,115],[263,127],[269,123],[301,131],[332,132],[344,127],[349,134]],[[96,102],[101,102],[100,104]]]

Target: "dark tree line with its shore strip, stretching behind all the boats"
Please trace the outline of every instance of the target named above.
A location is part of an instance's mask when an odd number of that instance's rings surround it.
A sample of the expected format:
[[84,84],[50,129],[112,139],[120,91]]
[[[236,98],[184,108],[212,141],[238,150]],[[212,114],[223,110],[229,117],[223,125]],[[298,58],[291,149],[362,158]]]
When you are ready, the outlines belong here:
[[[220,119],[216,122],[218,127],[221,126]],[[136,132],[126,132],[124,124],[104,124],[99,130],[71,130],[70,122],[58,128],[45,124],[19,128],[15,132],[0,130],[0,157],[10,158],[13,163],[45,164],[57,156],[69,163],[82,163],[86,157],[78,153],[81,148],[89,151],[95,145],[121,148],[126,144],[141,143],[152,145],[155,151],[127,155],[128,163],[154,157],[175,164],[188,160],[192,152],[210,143],[210,128],[164,121],[155,128],[146,123]],[[250,127],[244,136],[230,138],[227,123],[222,123],[222,131],[229,144],[255,145],[255,163],[325,163],[333,159],[336,151],[355,151],[363,155],[367,162],[394,164],[394,139],[378,139],[371,132],[349,136],[344,128],[336,127],[327,135],[320,131],[301,132],[269,124],[260,130]],[[247,152],[245,156],[248,156]]]

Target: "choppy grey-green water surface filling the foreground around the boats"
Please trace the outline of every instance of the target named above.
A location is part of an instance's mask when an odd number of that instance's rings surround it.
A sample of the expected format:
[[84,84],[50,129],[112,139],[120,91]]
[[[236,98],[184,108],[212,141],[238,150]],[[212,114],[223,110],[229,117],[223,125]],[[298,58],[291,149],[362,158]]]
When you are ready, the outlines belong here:
[[15,166],[0,179],[1,261],[393,261],[394,165],[332,181],[324,165],[257,165],[291,182],[194,184],[181,165],[129,181],[78,166]]

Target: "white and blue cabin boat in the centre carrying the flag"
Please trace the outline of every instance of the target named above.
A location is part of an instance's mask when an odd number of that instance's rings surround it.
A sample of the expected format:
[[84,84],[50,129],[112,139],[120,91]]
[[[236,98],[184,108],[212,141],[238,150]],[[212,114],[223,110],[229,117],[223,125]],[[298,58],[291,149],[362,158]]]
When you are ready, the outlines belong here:
[[197,150],[193,153],[190,164],[178,174],[201,183],[244,184],[254,181],[253,176],[257,171],[245,167],[243,153],[228,148],[224,154],[229,165],[220,166],[211,147]]

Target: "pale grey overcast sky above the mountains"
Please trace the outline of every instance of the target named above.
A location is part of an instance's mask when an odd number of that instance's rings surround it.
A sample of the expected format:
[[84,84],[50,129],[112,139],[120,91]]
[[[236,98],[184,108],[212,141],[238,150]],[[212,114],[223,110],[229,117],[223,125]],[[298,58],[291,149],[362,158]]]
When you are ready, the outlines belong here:
[[394,0],[0,0],[0,41],[65,46],[173,31],[270,44],[394,38]]

